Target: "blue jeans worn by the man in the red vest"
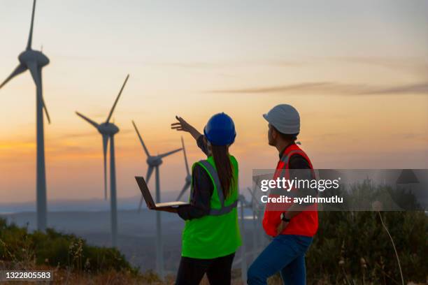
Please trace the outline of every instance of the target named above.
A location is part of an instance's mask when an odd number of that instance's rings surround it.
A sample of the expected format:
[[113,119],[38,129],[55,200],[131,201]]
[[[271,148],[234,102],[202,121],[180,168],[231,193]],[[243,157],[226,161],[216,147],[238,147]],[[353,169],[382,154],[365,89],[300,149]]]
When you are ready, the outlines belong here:
[[247,284],[265,285],[279,271],[284,284],[305,285],[305,253],[312,241],[304,235],[278,235],[248,269]]

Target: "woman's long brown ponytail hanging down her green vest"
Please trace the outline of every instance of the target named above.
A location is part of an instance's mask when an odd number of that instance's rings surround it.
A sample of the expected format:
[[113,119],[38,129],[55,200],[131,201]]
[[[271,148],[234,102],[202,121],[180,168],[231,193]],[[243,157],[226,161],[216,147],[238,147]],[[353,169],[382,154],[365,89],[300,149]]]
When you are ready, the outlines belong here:
[[211,145],[211,152],[217,168],[220,185],[222,186],[223,196],[226,199],[235,185],[234,170],[229,159],[229,146]]

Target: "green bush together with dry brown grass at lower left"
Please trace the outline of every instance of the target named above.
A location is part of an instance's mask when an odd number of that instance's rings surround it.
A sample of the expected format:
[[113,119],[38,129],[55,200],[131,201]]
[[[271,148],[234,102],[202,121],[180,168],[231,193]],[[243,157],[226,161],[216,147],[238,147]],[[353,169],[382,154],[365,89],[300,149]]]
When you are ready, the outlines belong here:
[[0,219],[0,270],[6,269],[51,270],[54,284],[162,284],[152,272],[141,274],[117,249],[90,246],[52,229],[29,233]]

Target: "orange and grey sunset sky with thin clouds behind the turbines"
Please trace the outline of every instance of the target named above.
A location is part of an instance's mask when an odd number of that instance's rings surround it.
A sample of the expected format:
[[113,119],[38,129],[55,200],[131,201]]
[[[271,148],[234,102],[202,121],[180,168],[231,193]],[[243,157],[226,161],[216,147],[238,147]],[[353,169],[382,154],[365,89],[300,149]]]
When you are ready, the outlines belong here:
[[[0,81],[27,43],[30,0],[0,4]],[[117,191],[138,194],[145,154],[180,147],[180,115],[202,131],[227,112],[242,187],[274,168],[264,112],[290,103],[315,168],[428,168],[428,2],[54,1],[36,6],[33,48],[50,58],[43,90],[48,199],[103,197],[99,133],[127,75],[115,124]],[[35,87],[23,73],[0,89],[0,201],[35,200]],[[190,162],[204,158],[183,134]],[[183,154],[164,159],[162,191],[178,193]]]

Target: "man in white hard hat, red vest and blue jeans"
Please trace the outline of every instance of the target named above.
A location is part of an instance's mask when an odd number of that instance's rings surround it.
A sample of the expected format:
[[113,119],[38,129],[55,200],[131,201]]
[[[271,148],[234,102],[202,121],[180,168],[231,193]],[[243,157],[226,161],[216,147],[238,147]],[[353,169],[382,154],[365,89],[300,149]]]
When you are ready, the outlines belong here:
[[[309,177],[305,176],[302,179],[315,177],[311,160],[295,143],[300,133],[299,112],[292,105],[280,104],[263,117],[269,123],[269,145],[276,147],[279,153],[273,180],[278,177],[289,180],[295,176],[299,176],[300,179],[306,174]],[[296,173],[299,174],[293,175]],[[300,190],[292,189],[291,192]],[[316,195],[316,190],[313,191]],[[308,192],[301,191],[297,195],[302,193]],[[267,203],[263,228],[273,240],[250,266],[247,283],[267,284],[270,276],[280,272],[284,284],[306,284],[305,254],[318,230],[317,205],[308,204],[299,207],[288,204],[278,207]]]

